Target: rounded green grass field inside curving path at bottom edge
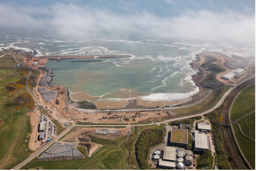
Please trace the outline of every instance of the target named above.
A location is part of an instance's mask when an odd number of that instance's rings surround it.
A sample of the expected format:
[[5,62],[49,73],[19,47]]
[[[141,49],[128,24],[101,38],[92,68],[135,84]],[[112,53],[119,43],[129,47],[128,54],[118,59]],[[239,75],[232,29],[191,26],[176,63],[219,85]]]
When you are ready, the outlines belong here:
[[82,169],[86,170],[124,170],[124,152],[117,147],[104,151],[97,158],[86,164]]

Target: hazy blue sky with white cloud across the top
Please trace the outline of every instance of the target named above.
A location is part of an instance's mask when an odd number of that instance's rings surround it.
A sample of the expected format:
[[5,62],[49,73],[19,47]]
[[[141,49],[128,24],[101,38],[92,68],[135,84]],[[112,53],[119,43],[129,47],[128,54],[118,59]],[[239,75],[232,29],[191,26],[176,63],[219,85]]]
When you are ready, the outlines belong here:
[[1,0],[0,30],[255,45],[253,0]]

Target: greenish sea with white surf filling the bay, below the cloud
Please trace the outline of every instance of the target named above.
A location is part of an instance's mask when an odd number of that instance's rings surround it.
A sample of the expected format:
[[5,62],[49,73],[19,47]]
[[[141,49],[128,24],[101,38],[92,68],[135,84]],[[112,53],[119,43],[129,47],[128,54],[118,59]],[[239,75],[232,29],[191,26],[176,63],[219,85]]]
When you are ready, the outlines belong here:
[[[154,4],[153,1],[150,2]],[[152,8],[152,5],[143,8]],[[157,13],[158,8],[157,6],[153,13]],[[175,16],[174,12],[172,11],[170,17]],[[157,15],[163,16],[167,13],[168,11],[164,11]],[[36,56],[132,56],[102,58],[101,62],[73,63],[72,59],[50,60],[45,64],[54,72],[53,84],[67,85],[72,100],[93,101],[98,108],[124,108],[130,99],[136,99],[138,104],[148,107],[184,103],[199,92],[192,80],[192,75],[198,70],[193,70],[189,65],[199,52],[210,50],[227,56],[255,56],[255,44],[220,45],[210,41],[181,41],[179,38],[163,37],[150,39],[138,35],[113,39],[98,36],[67,39],[40,29],[27,31],[25,28],[1,27],[1,31],[0,49],[13,47],[26,51],[36,50]]]

